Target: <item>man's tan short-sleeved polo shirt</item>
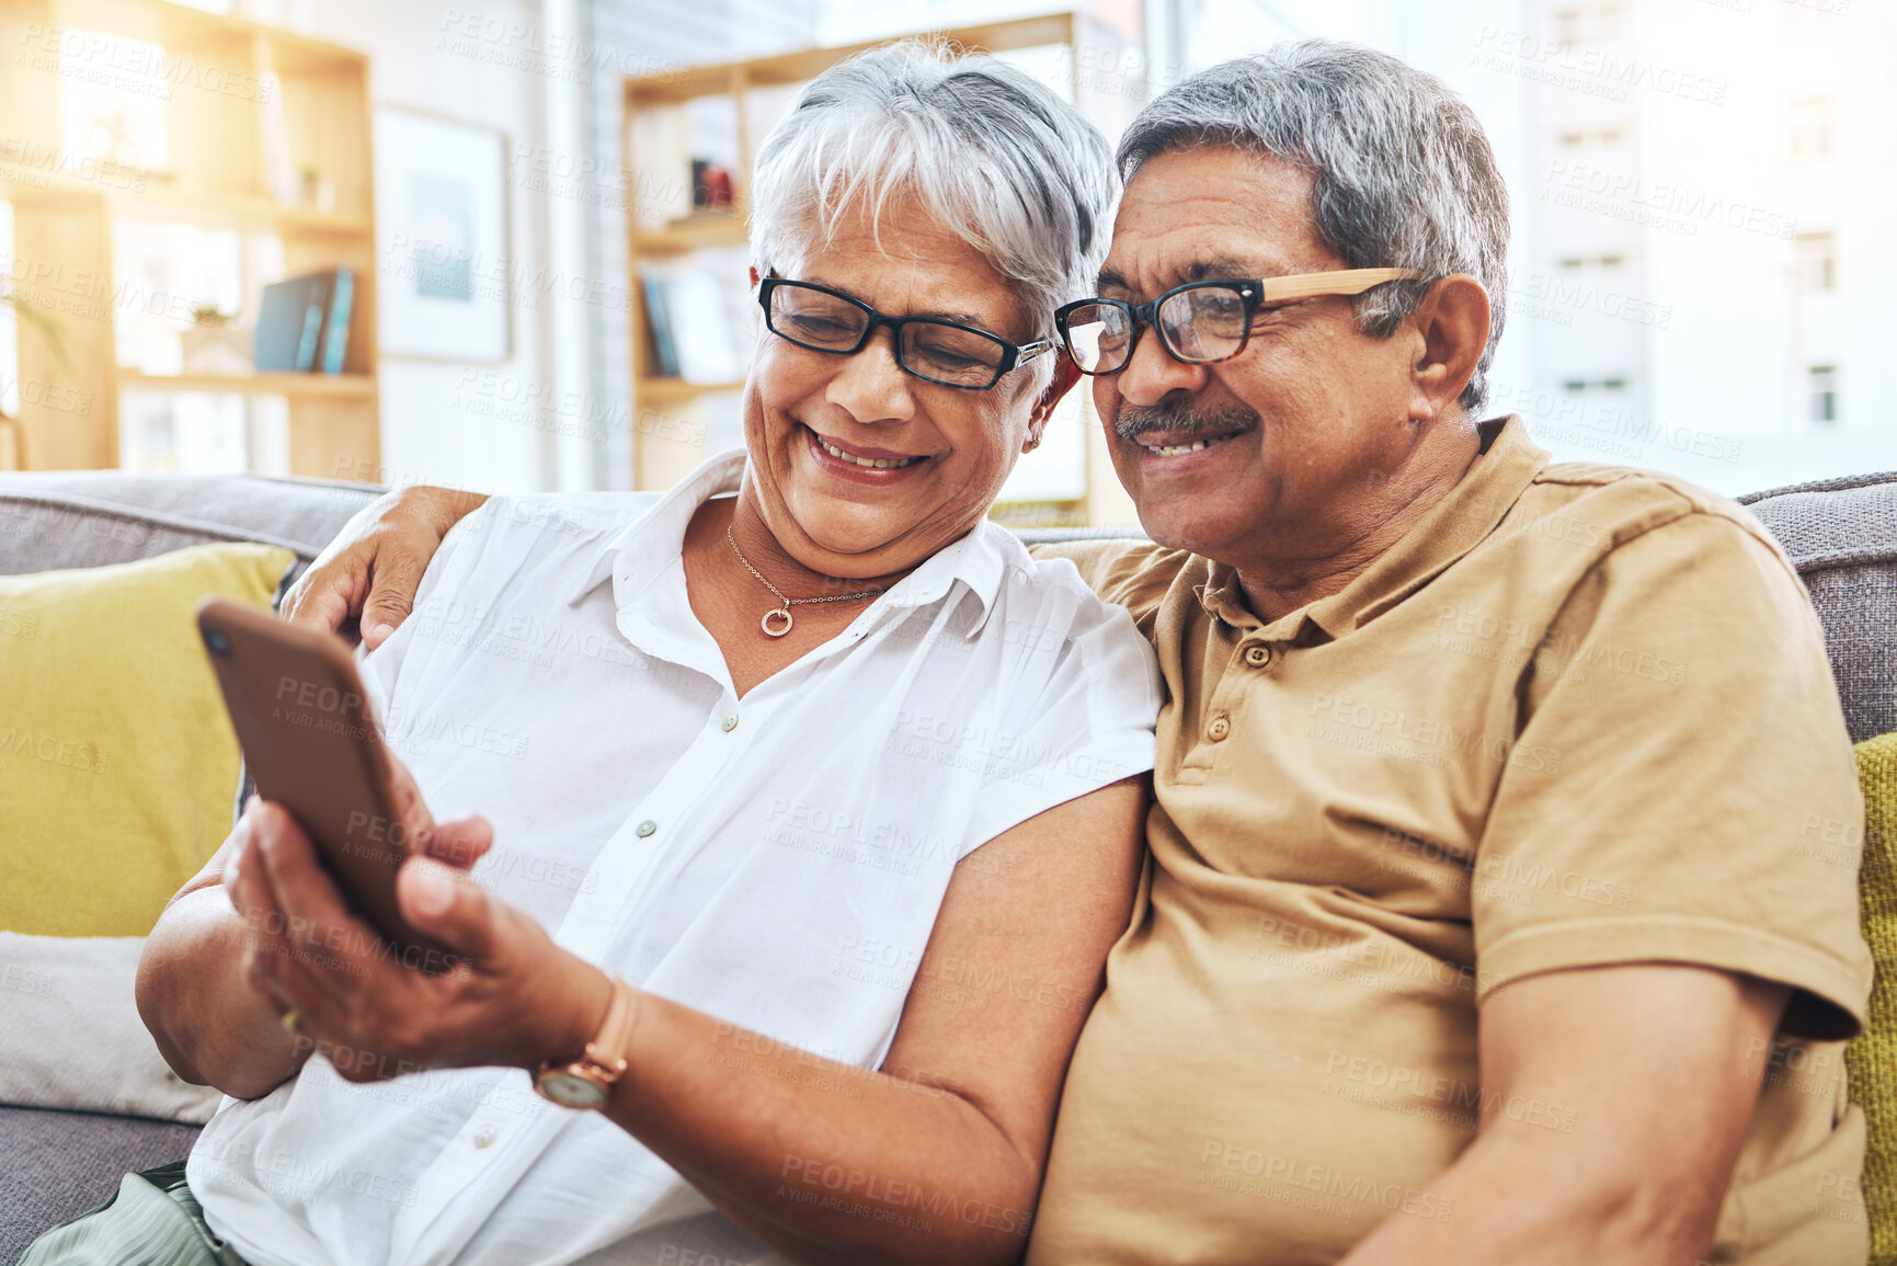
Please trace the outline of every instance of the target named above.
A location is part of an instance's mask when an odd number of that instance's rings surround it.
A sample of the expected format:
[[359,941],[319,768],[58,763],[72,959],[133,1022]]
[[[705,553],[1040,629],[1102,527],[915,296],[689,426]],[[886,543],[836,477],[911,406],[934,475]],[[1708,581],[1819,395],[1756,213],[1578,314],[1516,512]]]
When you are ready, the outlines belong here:
[[[1030,1266],[1334,1262],[1430,1179],[1512,979],[1690,962],[1795,987],[1715,1262],[1861,1266],[1863,803],[1817,617],[1679,480],[1519,419],[1343,592],[1060,547],[1159,649],[1151,871],[1060,1103]],[[1599,1023],[1612,1025],[1612,1015]],[[1736,1072],[1740,1067],[1736,1065]],[[1559,1103],[1497,1108],[1573,1133]]]

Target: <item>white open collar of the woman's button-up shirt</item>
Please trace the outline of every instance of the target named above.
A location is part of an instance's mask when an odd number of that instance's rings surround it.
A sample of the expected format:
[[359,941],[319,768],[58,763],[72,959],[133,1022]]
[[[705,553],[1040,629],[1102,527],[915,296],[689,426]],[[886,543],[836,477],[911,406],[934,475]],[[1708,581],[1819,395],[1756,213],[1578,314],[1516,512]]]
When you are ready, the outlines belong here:
[[[611,579],[613,592],[624,605],[624,596],[639,592],[662,571],[675,566],[685,549],[685,530],[692,514],[711,497],[738,492],[747,461],[742,448],[709,457],[660,495],[645,514],[611,533],[567,602],[577,604]],[[892,585],[890,592],[882,594],[871,609],[926,607],[948,596],[960,583],[979,604],[975,619],[967,626],[967,636],[973,638],[988,621],[988,611],[994,609],[994,596],[1007,575],[1011,552],[1021,552],[1021,545],[1005,528],[985,518],[975,524],[973,531],[935,550],[920,568]]]

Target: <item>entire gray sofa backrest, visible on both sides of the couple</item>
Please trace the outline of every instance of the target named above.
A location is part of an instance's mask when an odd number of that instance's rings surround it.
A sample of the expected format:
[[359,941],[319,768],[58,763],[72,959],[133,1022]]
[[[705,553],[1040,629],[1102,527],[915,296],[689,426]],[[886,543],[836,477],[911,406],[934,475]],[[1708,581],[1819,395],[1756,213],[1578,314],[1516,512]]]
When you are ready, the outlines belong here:
[[[0,575],[131,562],[209,541],[285,545],[302,571],[379,492],[262,475],[0,475]],[[1785,545],[1812,590],[1851,740],[1897,731],[1897,473],[1741,501]],[[1144,539],[1136,528],[1022,537]]]

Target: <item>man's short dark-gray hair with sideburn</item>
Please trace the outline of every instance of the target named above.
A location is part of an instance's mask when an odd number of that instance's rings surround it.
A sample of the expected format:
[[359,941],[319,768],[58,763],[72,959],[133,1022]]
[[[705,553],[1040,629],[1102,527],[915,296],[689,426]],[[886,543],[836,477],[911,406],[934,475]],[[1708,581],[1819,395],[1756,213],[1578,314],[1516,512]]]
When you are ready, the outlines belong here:
[[1432,74],[1335,40],[1279,44],[1212,66],[1146,106],[1119,142],[1119,173],[1170,150],[1231,144],[1311,171],[1318,237],[1351,268],[1415,268],[1360,294],[1356,325],[1387,338],[1436,277],[1489,290],[1489,344],[1463,408],[1487,399],[1508,304],[1508,188],[1474,110]]

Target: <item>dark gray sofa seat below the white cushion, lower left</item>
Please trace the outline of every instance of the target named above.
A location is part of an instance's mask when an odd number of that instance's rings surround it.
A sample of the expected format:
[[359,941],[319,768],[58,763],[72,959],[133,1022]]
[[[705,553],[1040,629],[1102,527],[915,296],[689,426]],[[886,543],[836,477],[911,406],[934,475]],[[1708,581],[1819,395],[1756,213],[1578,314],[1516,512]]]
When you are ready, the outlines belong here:
[[47,1226],[101,1205],[120,1177],[180,1160],[197,1126],[0,1107],[0,1262]]

